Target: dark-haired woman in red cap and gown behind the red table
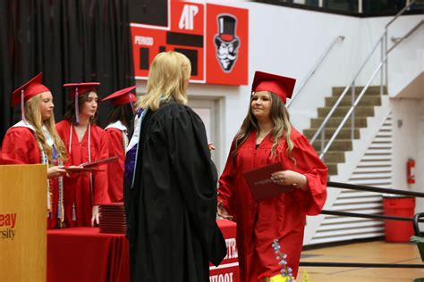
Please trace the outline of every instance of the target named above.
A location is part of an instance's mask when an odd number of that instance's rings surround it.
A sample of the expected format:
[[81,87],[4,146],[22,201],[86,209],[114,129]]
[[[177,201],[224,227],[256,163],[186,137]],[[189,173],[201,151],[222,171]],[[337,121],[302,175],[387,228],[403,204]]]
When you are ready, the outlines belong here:
[[[72,101],[67,104],[64,120],[56,125],[73,165],[94,162],[109,156],[106,132],[96,125],[98,82],[71,83]],[[98,224],[98,204],[110,203],[107,194],[107,164],[103,171],[85,172],[76,184],[65,182],[65,222],[68,227]]]

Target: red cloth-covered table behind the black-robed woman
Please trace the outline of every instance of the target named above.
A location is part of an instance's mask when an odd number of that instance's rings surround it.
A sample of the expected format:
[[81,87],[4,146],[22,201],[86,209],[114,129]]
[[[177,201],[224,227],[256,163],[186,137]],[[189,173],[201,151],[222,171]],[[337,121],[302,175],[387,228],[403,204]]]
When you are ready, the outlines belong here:
[[[227,245],[227,256],[210,266],[210,282],[238,282],[239,263],[235,223],[216,220]],[[121,234],[102,234],[98,228],[47,230],[47,282],[128,282],[128,241]]]

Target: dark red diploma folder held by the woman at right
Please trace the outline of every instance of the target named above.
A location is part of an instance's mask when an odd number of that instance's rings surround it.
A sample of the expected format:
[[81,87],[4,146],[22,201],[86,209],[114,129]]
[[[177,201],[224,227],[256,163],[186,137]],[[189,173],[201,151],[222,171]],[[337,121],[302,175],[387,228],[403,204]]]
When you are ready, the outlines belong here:
[[280,193],[293,191],[294,187],[278,185],[271,180],[271,175],[281,170],[284,170],[283,165],[281,162],[276,162],[259,169],[243,171],[243,176],[250,187],[251,195],[256,200],[264,200]]

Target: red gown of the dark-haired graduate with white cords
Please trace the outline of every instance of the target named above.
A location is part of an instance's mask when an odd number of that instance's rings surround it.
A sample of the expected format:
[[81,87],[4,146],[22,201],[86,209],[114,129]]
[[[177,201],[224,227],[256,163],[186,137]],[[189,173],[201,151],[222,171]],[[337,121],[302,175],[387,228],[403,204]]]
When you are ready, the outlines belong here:
[[[58,122],[56,129],[62,140],[64,140],[64,145],[70,156],[70,165],[80,165],[83,162],[89,162],[89,151],[91,162],[105,159],[109,156],[106,133],[97,125],[92,124],[90,126],[90,147],[88,128],[84,137],[82,137],[81,143],[78,140],[75,129],[73,129],[71,122],[68,120]],[[72,140],[70,134],[72,134]],[[71,141],[72,144],[70,145]],[[70,148],[71,152],[69,152]],[[64,182],[64,220],[67,227],[90,226],[93,205],[110,203],[109,195],[107,194],[107,165],[101,165],[98,168],[105,171],[81,173],[76,180],[73,180],[73,183]],[[92,175],[92,191],[90,175]]]

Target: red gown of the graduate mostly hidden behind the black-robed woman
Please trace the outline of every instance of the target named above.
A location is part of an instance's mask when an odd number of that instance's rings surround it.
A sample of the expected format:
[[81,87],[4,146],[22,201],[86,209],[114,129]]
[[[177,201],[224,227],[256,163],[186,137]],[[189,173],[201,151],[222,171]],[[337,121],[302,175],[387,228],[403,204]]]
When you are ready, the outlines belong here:
[[108,170],[114,173],[109,173],[109,196],[112,202],[123,202],[123,170],[125,163],[125,149],[124,149],[124,134],[125,131],[108,127],[105,129],[109,139],[109,155],[119,157],[118,162],[111,162],[108,164]]

